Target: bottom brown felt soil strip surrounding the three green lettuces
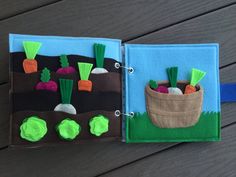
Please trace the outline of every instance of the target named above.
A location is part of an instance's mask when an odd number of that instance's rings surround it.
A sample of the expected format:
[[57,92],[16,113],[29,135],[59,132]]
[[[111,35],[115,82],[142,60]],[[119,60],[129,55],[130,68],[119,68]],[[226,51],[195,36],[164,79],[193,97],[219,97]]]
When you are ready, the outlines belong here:
[[[89,120],[98,115],[102,114],[109,118],[109,131],[104,133],[100,137],[96,137],[90,134],[89,131]],[[20,137],[20,125],[22,121],[29,116],[38,116],[44,119],[47,122],[48,132],[43,139],[39,142],[28,142]],[[73,141],[62,140],[58,137],[58,134],[55,130],[55,126],[65,118],[70,118],[75,120],[81,126],[81,132]],[[12,133],[11,133],[11,141],[12,145],[29,145],[29,146],[41,146],[45,144],[54,144],[54,143],[78,143],[83,140],[101,140],[106,138],[120,138],[121,136],[121,119],[116,118],[114,115],[114,111],[92,111],[87,113],[82,113],[78,115],[71,115],[63,112],[37,112],[37,111],[21,111],[12,114]]]

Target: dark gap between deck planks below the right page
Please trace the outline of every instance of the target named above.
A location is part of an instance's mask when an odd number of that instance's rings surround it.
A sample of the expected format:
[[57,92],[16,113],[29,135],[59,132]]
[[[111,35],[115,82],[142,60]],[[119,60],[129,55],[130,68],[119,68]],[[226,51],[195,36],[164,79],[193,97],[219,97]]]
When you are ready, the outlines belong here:
[[[222,130],[222,129],[225,129],[225,128],[227,128],[227,127],[233,126],[233,125],[235,125],[235,124],[236,124],[236,121],[235,121],[235,122],[232,122],[232,123],[230,123],[230,124],[228,124],[228,125],[222,126],[222,127],[221,127],[221,130]],[[168,148],[166,148],[166,149],[163,149],[163,150],[154,152],[154,153],[149,154],[149,155],[147,155],[147,156],[144,156],[144,157],[142,157],[142,158],[140,158],[140,159],[136,159],[136,160],[134,160],[134,161],[132,161],[132,162],[123,164],[123,165],[121,165],[121,166],[119,166],[119,167],[116,167],[116,168],[114,168],[114,169],[111,169],[111,170],[108,170],[108,171],[103,172],[103,173],[101,173],[101,174],[98,174],[98,175],[96,175],[95,177],[101,177],[101,176],[106,175],[106,174],[109,174],[109,173],[111,173],[111,172],[113,172],[113,171],[119,170],[119,169],[121,169],[121,168],[123,168],[123,167],[125,167],[125,166],[131,165],[131,164],[137,163],[137,162],[139,162],[139,161],[141,161],[141,160],[143,160],[143,159],[149,158],[149,157],[151,157],[151,156],[153,156],[153,155],[157,155],[157,154],[162,153],[162,152],[164,152],[164,151],[168,151],[168,150],[170,150],[170,149],[173,149],[173,148],[176,148],[176,147],[179,147],[179,146],[184,146],[184,145],[186,145],[186,144],[189,144],[189,143],[186,143],[186,142],[184,142],[184,143],[177,143],[177,144],[175,144],[175,145],[173,145],[173,146],[170,146],[170,147],[168,147]]]

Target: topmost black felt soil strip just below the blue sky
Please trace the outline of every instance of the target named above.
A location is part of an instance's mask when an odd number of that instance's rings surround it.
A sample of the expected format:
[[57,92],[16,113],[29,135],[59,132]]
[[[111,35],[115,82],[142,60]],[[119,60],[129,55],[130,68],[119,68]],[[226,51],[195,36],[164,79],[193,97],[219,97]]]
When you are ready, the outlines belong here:
[[[70,66],[73,66],[78,71],[78,62],[87,62],[92,63],[94,66],[96,66],[95,59],[80,55],[68,55],[68,61]],[[24,52],[14,52],[10,53],[10,59],[11,59],[11,71],[13,72],[20,72],[24,73],[22,63],[23,60],[26,58]],[[35,59],[38,62],[38,71],[41,71],[44,67],[47,67],[50,71],[56,72],[58,68],[60,68],[60,58],[59,56],[43,56],[43,55],[37,55]],[[114,67],[115,63],[117,61],[115,59],[111,58],[105,58],[104,59],[104,68],[109,72],[121,72],[120,69],[116,69]]]

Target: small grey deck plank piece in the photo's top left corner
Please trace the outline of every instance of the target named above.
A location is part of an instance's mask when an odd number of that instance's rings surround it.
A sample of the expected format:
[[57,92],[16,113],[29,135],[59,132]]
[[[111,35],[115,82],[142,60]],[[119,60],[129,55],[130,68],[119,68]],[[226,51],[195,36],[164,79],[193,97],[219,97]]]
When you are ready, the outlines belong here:
[[27,2],[24,0],[0,1],[0,7],[1,7],[0,21],[55,2],[58,1],[57,0],[37,0],[37,1],[33,0]]

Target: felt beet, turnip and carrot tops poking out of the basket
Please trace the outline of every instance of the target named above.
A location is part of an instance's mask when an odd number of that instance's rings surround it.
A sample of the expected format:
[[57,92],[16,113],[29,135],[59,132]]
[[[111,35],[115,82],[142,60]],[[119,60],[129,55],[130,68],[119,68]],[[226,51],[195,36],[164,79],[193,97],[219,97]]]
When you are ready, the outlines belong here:
[[[158,86],[156,81],[150,80],[149,81],[150,88],[160,93],[182,95],[183,94],[182,90],[177,87],[178,68],[171,67],[167,68],[166,71],[170,82],[170,87],[166,87],[163,85]],[[203,79],[205,75],[206,72],[193,68],[190,84],[185,87],[184,94],[190,94],[196,92],[195,86]]]

